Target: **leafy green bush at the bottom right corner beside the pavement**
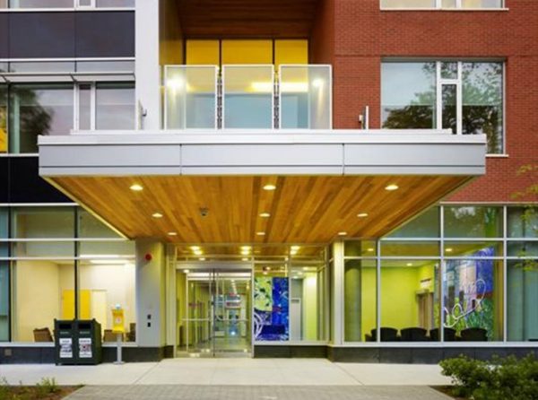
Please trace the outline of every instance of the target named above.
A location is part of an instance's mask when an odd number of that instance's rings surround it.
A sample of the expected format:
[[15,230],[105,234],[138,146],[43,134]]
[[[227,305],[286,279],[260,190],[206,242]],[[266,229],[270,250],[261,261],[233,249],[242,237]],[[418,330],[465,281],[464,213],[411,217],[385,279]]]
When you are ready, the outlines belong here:
[[478,361],[465,356],[441,361],[442,374],[452,378],[453,395],[474,400],[538,399],[538,360],[529,354]]

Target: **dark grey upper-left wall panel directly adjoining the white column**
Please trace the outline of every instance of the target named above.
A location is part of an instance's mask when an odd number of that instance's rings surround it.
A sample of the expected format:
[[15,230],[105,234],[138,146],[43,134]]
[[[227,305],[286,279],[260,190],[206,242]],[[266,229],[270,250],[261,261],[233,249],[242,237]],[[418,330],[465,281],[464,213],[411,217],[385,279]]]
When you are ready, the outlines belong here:
[[76,57],[134,57],[134,12],[76,13]]

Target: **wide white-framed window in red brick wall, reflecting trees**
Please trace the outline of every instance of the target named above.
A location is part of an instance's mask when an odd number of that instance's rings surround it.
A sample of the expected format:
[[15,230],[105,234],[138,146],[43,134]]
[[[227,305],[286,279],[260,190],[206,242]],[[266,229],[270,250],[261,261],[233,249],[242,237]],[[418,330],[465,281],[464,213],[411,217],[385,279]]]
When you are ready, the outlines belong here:
[[501,62],[384,62],[382,126],[483,134],[488,152],[502,153],[503,68]]

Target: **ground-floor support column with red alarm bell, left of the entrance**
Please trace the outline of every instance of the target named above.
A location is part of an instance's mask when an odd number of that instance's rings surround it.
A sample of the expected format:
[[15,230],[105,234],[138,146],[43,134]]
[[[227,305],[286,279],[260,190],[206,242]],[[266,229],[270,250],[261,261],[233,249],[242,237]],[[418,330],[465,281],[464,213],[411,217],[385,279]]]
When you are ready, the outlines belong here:
[[165,245],[157,239],[136,239],[136,342],[141,347],[165,344],[165,278]]

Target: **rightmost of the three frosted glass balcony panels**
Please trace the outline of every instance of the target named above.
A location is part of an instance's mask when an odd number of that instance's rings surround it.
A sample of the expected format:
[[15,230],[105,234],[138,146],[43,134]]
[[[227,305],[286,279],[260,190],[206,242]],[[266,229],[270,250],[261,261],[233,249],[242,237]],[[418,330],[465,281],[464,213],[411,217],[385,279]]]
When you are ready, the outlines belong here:
[[331,67],[281,65],[282,128],[331,128]]

